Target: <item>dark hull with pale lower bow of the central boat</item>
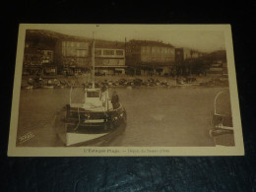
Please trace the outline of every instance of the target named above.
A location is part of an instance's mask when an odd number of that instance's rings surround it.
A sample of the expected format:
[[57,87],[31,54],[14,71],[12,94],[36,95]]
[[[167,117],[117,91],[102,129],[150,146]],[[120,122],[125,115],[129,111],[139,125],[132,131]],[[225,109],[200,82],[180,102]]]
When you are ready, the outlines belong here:
[[65,146],[107,146],[125,130],[126,111],[123,107],[103,113],[74,111],[67,105],[56,115],[56,134]]

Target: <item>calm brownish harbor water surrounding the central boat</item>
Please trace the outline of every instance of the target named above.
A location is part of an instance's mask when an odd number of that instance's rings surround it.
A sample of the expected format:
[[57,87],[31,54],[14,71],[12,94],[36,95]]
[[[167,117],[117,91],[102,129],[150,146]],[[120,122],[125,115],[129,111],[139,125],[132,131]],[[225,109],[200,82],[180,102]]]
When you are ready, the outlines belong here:
[[[114,88],[127,111],[127,126],[108,146],[211,147],[210,112],[226,88]],[[110,93],[113,88],[110,89]],[[21,90],[17,146],[63,146],[54,119],[70,97],[69,89]],[[31,133],[32,137],[23,140]]]

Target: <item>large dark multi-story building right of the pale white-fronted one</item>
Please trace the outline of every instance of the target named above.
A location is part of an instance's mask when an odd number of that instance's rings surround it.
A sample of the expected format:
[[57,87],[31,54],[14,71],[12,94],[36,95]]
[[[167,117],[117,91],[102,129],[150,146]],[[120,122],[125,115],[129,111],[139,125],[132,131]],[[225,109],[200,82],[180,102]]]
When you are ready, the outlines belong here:
[[136,74],[163,75],[174,64],[174,47],[160,41],[130,40],[126,45],[126,63]]

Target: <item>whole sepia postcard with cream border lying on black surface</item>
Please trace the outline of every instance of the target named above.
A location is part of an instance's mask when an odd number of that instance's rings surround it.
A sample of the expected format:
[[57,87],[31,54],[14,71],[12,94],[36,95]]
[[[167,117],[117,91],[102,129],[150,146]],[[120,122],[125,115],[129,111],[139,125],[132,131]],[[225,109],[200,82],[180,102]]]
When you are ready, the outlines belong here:
[[20,25],[8,156],[243,155],[230,25]]

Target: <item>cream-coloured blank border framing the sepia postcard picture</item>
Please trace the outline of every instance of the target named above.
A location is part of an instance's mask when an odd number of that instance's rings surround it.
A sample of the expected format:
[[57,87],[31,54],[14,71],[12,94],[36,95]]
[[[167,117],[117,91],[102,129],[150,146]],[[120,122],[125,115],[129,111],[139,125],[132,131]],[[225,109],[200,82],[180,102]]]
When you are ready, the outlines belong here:
[[[96,25],[91,25],[95,26]],[[100,25],[113,28],[113,25]],[[115,28],[140,27],[141,25],[114,25]],[[143,25],[144,28],[171,31],[224,31],[230,100],[234,127],[234,147],[16,147],[19,101],[22,80],[26,30],[68,29],[71,25],[21,24],[17,46],[17,58],[13,89],[12,114],[9,134],[9,157],[149,157],[149,156],[243,156],[244,146],[240,120],[239,101],[234,67],[230,25]],[[84,29],[85,25],[72,25]]]

